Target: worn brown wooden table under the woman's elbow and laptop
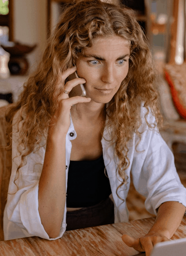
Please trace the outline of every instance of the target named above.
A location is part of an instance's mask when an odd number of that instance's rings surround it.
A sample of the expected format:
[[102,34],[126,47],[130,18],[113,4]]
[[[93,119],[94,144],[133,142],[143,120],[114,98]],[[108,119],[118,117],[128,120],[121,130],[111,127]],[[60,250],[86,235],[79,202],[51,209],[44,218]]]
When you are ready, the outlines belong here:
[[[57,240],[27,237],[0,242],[4,256],[129,256],[138,254],[123,243],[122,234],[134,238],[145,235],[155,217],[66,231]],[[186,215],[171,239],[186,237]]]

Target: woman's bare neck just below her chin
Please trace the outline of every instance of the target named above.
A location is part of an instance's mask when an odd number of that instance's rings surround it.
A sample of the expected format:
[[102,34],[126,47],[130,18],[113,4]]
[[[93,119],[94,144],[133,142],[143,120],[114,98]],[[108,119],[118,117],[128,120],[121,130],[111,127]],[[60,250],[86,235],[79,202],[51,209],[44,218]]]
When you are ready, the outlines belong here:
[[97,120],[104,119],[105,103],[78,103],[72,109],[72,116],[81,121],[96,122]]

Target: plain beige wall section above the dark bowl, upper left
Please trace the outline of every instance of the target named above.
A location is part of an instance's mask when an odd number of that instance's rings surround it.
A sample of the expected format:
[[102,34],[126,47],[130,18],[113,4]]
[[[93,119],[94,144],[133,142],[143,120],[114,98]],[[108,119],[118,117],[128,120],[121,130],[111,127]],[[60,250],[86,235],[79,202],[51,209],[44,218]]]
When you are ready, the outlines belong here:
[[37,48],[26,57],[30,71],[34,70],[47,40],[47,0],[14,1],[14,41]]

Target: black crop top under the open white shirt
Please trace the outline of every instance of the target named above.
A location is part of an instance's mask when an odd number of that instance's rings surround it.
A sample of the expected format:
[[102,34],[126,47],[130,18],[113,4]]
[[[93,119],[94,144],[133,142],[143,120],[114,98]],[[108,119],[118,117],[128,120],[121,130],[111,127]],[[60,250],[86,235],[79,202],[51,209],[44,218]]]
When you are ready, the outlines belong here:
[[109,178],[104,174],[103,156],[93,161],[70,161],[67,181],[67,207],[88,207],[111,194]]

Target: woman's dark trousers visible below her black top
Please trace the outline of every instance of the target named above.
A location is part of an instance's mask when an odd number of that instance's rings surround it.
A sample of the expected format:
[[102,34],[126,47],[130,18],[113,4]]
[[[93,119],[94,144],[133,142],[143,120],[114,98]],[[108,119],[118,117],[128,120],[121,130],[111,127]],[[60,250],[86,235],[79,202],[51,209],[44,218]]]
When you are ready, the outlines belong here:
[[76,211],[67,211],[66,231],[114,223],[114,203],[110,198]]

